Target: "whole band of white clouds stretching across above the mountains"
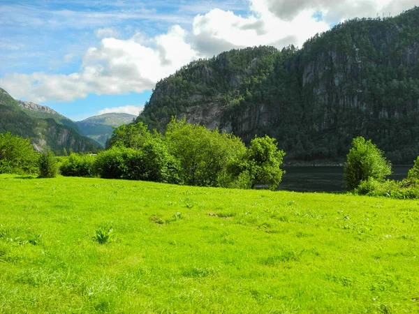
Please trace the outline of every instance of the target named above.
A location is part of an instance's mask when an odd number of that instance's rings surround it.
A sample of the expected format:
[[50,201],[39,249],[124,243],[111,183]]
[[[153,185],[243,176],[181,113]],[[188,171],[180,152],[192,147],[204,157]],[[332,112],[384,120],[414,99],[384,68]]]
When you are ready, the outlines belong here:
[[136,33],[123,40],[115,38],[117,33],[110,28],[98,29],[101,42],[85,52],[79,73],[12,73],[1,78],[0,85],[13,96],[38,103],[71,101],[91,93],[141,93],[193,59],[254,45],[301,46],[332,23],[355,16],[375,17],[380,12],[395,15],[417,0],[249,1],[246,17],[214,8],[196,15],[190,30],[177,24],[152,38]]

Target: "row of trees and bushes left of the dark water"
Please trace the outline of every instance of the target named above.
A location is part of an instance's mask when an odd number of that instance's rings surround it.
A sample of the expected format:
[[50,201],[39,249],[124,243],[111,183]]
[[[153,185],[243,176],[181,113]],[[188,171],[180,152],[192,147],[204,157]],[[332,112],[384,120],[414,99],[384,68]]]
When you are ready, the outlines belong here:
[[[150,132],[145,124],[114,128],[107,149],[97,156],[70,154],[59,165],[61,174],[156,181],[191,186],[254,188],[257,184],[275,189],[284,170],[284,151],[271,137],[255,137],[246,147],[239,137],[208,130],[185,119],[173,118],[163,135]],[[47,171],[52,167],[52,171]],[[0,137],[0,173],[57,173],[54,154],[37,154],[29,140],[6,133]]]

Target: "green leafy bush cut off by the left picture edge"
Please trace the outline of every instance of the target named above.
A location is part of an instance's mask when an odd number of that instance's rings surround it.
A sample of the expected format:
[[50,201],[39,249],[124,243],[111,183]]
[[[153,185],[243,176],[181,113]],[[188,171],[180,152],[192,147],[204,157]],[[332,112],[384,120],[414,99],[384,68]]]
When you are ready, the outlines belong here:
[[0,133],[0,173],[34,173],[37,170],[36,152],[30,139],[10,132]]

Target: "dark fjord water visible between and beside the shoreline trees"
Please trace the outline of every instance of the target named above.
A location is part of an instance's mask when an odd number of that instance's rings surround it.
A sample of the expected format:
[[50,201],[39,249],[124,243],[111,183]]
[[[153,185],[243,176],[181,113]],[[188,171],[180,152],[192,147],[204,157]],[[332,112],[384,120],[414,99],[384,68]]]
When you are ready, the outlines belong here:
[[[388,179],[402,180],[407,177],[410,165],[392,167]],[[284,167],[286,174],[282,177],[279,190],[304,192],[343,192],[344,167],[341,166],[292,166]]]

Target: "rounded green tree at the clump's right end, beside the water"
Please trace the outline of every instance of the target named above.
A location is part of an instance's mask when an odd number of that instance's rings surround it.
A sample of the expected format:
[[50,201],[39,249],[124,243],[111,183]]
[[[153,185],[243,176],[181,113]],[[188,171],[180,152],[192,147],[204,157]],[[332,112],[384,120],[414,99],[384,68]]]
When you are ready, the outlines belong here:
[[270,190],[276,189],[285,173],[281,170],[285,152],[278,150],[277,140],[265,135],[250,142],[244,155],[241,168],[249,174],[251,188],[256,184],[267,184]]

